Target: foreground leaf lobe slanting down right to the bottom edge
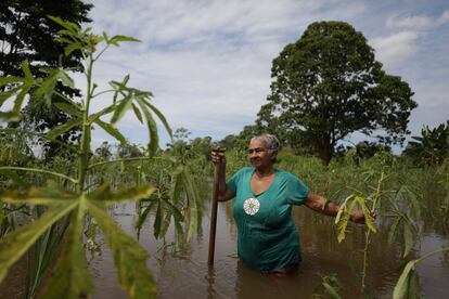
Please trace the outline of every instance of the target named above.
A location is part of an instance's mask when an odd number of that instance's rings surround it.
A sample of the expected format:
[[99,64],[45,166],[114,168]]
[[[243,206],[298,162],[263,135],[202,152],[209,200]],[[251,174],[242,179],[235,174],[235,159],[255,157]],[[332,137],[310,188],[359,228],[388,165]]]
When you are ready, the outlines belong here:
[[146,268],[146,251],[115,224],[104,207],[89,200],[87,205],[112,249],[120,286],[130,298],[155,298],[156,283]]

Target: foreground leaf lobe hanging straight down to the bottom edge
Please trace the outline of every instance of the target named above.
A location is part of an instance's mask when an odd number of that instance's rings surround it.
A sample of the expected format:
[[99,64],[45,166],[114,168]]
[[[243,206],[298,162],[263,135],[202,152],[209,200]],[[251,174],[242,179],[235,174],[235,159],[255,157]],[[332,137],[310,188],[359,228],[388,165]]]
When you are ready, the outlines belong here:
[[93,290],[81,240],[85,210],[86,197],[81,196],[73,213],[67,242],[49,283],[40,294],[41,298],[86,298]]

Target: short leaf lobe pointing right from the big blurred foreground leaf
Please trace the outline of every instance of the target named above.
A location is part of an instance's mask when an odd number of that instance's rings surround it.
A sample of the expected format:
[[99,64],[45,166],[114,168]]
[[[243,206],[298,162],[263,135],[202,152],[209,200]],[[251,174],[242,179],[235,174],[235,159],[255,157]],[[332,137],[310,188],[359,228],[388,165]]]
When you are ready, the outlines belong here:
[[88,195],[90,200],[98,200],[104,204],[127,203],[129,200],[140,200],[150,197],[155,191],[152,185],[139,185],[134,187],[123,187],[115,193],[111,192],[108,184],[101,185],[98,190]]

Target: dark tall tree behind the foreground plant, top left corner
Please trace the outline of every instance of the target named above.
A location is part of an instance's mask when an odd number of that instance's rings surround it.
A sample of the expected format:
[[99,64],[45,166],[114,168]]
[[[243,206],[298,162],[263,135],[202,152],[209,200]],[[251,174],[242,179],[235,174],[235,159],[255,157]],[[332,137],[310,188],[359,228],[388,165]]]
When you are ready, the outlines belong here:
[[[0,1],[0,76],[21,76],[21,63],[29,62],[33,74],[47,77],[47,73],[38,72],[42,67],[64,67],[81,70],[81,53],[74,51],[65,56],[64,46],[54,41],[60,25],[47,15],[60,16],[75,24],[89,23],[87,16],[92,4],[80,0],[2,0]],[[57,84],[64,95],[74,98],[79,91]],[[54,95],[55,98],[55,95]],[[57,102],[57,99],[53,99]],[[25,107],[23,120],[38,132],[44,132],[66,122],[69,116],[56,107],[46,105],[44,101],[30,101]],[[17,123],[15,125],[17,126]],[[75,141],[79,129],[74,128],[59,139]],[[48,156],[57,151],[57,143],[46,142]]]

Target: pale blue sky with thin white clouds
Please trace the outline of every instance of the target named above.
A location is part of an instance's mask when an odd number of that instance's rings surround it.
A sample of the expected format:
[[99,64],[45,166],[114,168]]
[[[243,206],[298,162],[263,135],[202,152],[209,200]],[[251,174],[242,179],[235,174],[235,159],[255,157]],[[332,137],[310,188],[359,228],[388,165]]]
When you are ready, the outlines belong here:
[[[127,74],[129,86],[152,91],[170,127],[220,140],[253,125],[270,93],[270,68],[287,44],[317,21],[344,21],[361,31],[384,69],[407,81],[419,106],[409,130],[449,119],[449,1],[447,0],[92,0],[95,32],[141,40],[111,49],[94,81]],[[77,77],[79,86],[84,81]],[[98,99],[100,108],[110,99]],[[132,113],[119,123],[130,142],[147,142]],[[159,128],[161,146],[168,142]],[[360,135],[350,136],[352,142]],[[95,130],[93,145],[113,142]]]

